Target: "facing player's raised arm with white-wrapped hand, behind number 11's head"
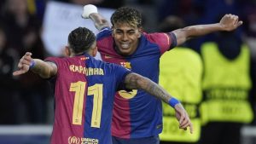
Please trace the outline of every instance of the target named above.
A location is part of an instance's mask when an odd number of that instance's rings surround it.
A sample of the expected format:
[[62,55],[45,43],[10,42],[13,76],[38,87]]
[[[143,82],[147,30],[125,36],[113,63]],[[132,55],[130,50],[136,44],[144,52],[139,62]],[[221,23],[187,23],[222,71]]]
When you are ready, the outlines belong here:
[[85,5],[82,17],[84,19],[92,20],[94,25],[96,26],[96,29],[99,31],[101,31],[104,27],[110,27],[108,24],[108,20],[106,20],[101,14],[98,14],[98,10],[95,5]]

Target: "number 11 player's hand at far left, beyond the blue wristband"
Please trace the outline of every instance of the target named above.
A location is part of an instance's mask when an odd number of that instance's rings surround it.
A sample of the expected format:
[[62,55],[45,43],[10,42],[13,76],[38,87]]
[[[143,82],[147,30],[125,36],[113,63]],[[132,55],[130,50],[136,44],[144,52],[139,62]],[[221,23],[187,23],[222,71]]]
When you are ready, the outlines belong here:
[[26,54],[20,59],[20,62],[18,64],[18,68],[19,70],[13,72],[14,76],[18,76],[21,74],[24,74],[26,72],[28,72],[29,70],[29,66],[32,63],[32,53],[30,52],[26,52]]

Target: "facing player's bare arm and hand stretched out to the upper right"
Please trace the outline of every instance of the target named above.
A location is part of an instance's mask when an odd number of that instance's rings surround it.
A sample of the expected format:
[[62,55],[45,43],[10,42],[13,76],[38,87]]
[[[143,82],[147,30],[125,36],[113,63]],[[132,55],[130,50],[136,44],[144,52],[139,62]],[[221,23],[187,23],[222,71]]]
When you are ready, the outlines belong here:
[[200,37],[218,31],[233,31],[241,24],[242,21],[239,20],[237,15],[225,14],[216,24],[187,26],[173,32],[177,37],[177,45],[181,45],[193,37]]

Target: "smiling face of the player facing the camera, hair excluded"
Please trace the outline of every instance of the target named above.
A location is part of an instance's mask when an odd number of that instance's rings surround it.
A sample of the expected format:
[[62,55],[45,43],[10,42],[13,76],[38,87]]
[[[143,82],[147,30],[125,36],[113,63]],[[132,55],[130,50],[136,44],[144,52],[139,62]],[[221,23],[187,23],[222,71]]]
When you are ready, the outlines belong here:
[[118,23],[113,26],[114,42],[121,55],[132,55],[139,43],[141,28]]

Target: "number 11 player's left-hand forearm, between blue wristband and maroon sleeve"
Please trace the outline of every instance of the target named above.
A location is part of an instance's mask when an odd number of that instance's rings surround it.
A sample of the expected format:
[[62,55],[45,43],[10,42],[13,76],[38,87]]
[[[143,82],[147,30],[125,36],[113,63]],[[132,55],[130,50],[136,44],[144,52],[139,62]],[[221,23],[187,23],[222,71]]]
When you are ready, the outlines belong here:
[[55,73],[52,72],[52,66],[50,63],[39,59],[33,59],[33,61],[35,64],[30,70],[37,73],[41,78],[50,78],[55,75]]

